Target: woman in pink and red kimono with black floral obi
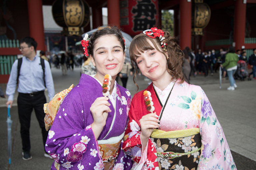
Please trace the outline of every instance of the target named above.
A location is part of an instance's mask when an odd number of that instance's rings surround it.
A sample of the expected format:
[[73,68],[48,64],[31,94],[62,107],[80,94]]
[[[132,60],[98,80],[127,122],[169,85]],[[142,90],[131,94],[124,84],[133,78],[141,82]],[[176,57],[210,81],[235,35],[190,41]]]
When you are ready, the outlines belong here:
[[130,57],[152,80],[131,102],[122,149],[133,157],[132,169],[236,169],[204,91],[184,81],[184,54],[175,38],[146,30],[132,40]]

